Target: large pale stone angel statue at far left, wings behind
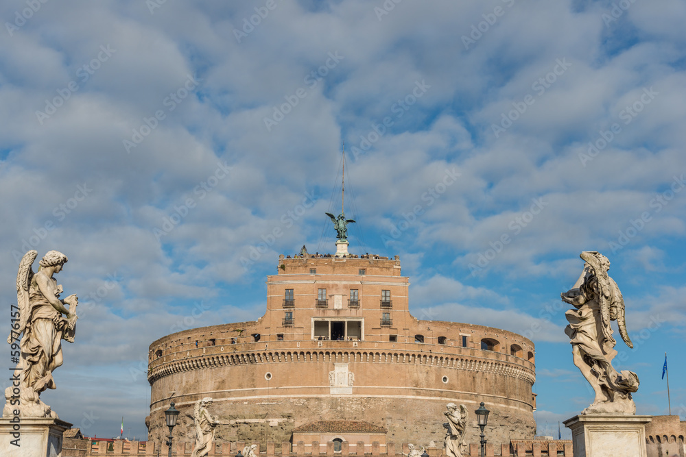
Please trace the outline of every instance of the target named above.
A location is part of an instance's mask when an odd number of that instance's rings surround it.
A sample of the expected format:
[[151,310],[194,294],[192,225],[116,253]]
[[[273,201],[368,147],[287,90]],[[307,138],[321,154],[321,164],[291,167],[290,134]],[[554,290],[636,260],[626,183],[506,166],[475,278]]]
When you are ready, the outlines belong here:
[[[58,418],[39,396],[45,389],[56,387],[52,372],[62,365],[62,340],[73,343],[76,332],[78,298],[69,295],[60,299],[62,286],[53,277],[67,263],[67,256],[49,251],[34,273],[32,264],[36,256],[36,251],[28,251],[23,256],[16,277],[18,311],[12,314],[16,319],[12,319],[7,342],[12,345],[12,354],[18,349],[12,379],[19,381],[19,395],[12,386],[5,389],[7,404],[3,417],[11,416],[16,409],[23,417]],[[69,305],[69,309],[65,305]],[[15,360],[14,356],[12,360]]]

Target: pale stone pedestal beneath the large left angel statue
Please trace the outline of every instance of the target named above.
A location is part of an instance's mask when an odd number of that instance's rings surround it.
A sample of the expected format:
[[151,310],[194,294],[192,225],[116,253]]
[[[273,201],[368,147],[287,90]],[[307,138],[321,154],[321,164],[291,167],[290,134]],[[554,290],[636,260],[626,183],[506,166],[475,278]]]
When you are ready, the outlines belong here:
[[17,423],[11,421],[11,417],[0,418],[3,457],[62,457],[62,433],[71,423],[51,417],[19,417],[19,430],[15,430]]

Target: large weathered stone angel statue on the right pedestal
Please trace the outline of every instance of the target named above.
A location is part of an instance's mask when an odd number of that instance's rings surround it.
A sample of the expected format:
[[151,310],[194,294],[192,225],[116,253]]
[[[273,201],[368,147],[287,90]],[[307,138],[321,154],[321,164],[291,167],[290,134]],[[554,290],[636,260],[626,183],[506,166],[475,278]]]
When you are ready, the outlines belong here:
[[580,257],[584,270],[573,288],[560,295],[574,307],[565,312],[569,321],[565,334],[571,339],[574,365],[595,391],[593,404],[582,414],[633,415],[636,405],[631,393],[638,390],[639,378],[632,371],[617,373],[612,367],[617,351],[610,321],[617,321],[622,340],[634,347],[626,333],[622,293],[607,274],[608,258],[596,251],[584,251]]

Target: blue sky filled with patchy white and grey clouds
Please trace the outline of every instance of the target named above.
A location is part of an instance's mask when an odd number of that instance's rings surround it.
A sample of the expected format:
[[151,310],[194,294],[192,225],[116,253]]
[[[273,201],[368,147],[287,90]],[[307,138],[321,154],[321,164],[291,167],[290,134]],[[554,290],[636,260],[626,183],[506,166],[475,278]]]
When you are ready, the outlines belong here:
[[66,254],[80,319],[42,399],[84,434],[123,417],[144,438],[150,343],[255,320],[279,254],[335,251],[343,143],[350,251],[400,256],[419,319],[532,339],[539,434],[593,399],[559,295],[582,251],[624,295],[637,414],[668,412],[666,351],[684,419],[683,1],[8,0],[0,18],[0,332],[21,256]]

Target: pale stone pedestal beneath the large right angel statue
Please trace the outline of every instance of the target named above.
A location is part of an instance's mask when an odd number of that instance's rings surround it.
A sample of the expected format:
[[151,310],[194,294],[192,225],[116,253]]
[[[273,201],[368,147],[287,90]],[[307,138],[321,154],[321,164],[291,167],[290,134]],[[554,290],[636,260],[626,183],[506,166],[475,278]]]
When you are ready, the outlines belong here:
[[580,415],[565,421],[574,457],[646,457],[646,423],[652,416]]

